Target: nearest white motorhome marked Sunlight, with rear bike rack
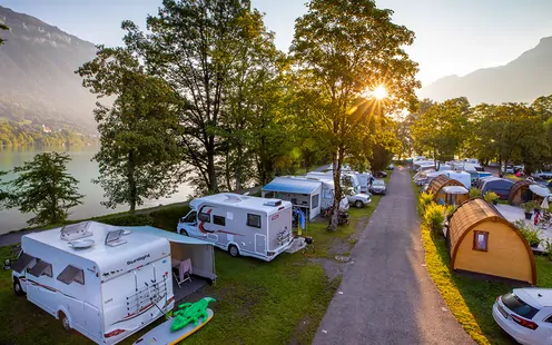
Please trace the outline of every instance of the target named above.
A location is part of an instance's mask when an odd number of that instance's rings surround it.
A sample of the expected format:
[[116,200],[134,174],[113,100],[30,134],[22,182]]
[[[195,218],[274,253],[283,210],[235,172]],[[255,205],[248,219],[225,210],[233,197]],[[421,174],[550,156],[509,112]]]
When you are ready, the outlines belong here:
[[116,344],[172,309],[166,238],[95,221],[24,235],[16,294],[97,344]]

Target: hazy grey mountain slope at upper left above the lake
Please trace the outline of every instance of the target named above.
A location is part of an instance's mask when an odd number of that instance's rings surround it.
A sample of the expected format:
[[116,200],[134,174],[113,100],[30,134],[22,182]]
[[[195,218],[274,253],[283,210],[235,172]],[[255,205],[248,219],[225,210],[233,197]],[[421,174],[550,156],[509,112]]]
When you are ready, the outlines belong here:
[[92,131],[96,97],[75,70],[95,57],[95,46],[1,6],[0,22],[10,28],[0,30],[0,120]]

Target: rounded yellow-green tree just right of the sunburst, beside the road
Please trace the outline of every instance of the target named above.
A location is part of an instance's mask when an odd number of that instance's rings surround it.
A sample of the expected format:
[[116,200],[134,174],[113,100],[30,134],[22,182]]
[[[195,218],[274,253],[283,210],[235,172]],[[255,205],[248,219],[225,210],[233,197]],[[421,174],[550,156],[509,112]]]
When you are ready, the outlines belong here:
[[412,126],[418,151],[430,152],[438,170],[441,161],[453,159],[465,139],[472,109],[465,97],[433,105]]

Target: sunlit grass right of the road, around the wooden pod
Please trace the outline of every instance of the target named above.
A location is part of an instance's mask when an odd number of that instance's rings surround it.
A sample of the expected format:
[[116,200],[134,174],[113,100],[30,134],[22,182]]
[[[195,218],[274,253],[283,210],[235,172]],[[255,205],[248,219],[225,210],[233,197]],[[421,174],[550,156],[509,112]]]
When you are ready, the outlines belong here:
[[[417,193],[420,187],[413,185]],[[444,237],[422,226],[425,260],[435,286],[459,323],[479,344],[516,344],[494,322],[492,306],[496,297],[514,286],[505,283],[456,275],[451,272],[448,250]],[[538,285],[552,287],[552,263],[535,256]]]

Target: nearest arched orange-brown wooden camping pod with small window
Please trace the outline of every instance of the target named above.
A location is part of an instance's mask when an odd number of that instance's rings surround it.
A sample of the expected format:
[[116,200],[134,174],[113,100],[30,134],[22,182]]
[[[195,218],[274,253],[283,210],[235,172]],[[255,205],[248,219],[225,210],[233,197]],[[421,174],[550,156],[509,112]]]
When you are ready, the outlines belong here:
[[446,239],[454,270],[536,284],[529,243],[483,199],[471,199],[459,206],[451,217]]

